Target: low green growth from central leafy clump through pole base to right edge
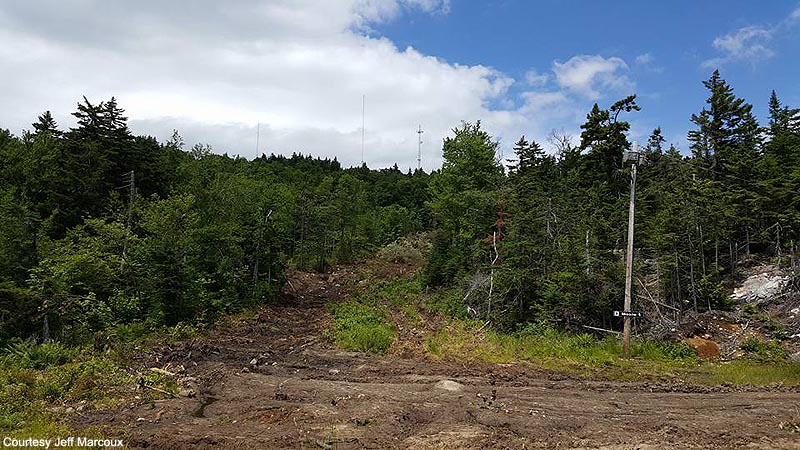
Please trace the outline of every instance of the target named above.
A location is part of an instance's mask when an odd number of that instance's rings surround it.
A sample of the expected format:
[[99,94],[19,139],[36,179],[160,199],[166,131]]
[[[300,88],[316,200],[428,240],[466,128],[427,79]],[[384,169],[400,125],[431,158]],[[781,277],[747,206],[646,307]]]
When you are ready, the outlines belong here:
[[748,340],[742,345],[745,358],[718,362],[703,360],[683,342],[634,339],[631,358],[626,359],[621,357],[622,344],[617,336],[575,334],[546,322],[506,332],[487,327],[485,321],[467,311],[461,290],[426,289],[419,272],[367,276],[367,283],[355,290],[355,298],[332,307],[332,335],[335,343],[347,350],[385,353],[392,342],[388,330],[400,325],[387,320],[395,318],[425,330],[417,353],[439,360],[524,362],[543,370],[600,380],[800,384],[800,364],[787,361],[785,350],[776,341]]

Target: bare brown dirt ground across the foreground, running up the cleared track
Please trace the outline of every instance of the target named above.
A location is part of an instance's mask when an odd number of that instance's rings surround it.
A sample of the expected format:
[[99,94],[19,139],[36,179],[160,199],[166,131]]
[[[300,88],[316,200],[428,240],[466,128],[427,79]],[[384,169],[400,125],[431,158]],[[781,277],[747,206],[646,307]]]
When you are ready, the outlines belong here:
[[293,274],[282,304],[145,357],[180,371],[192,393],[143,391],[75,425],[148,449],[800,448],[793,389],[590,382],[526,364],[338,351],[323,334],[325,305],[348,296],[353,274]]

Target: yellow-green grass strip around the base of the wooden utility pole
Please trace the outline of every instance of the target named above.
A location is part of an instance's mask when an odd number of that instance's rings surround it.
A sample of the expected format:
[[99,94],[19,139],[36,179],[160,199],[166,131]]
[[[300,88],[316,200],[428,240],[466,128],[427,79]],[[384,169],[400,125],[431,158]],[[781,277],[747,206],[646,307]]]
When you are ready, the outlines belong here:
[[[621,343],[612,337],[598,341],[588,334],[569,334],[543,326],[529,326],[510,334],[478,332],[480,325],[479,322],[452,321],[428,338],[425,350],[433,358],[454,361],[526,361],[542,369],[587,379],[800,385],[800,364],[775,358],[711,362],[699,359],[694,350],[683,343],[634,340],[631,358],[626,359],[620,356]],[[769,344],[762,345],[768,346],[762,353],[769,352]]]

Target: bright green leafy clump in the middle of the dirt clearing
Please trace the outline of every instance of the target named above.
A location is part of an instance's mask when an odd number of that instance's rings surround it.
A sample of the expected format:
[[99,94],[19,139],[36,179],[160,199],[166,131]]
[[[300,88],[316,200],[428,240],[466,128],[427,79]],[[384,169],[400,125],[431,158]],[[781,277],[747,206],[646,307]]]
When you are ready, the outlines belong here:
[[330,336],[342,349],[385,354],[394,341],[394,325],[388,322],[387,312],[379,304],[335,303],[330,312]]

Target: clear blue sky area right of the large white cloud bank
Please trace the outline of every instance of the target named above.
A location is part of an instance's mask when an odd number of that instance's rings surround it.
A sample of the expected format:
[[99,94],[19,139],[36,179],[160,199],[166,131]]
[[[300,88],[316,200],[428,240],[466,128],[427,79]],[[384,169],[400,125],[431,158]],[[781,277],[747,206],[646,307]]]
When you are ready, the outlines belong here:
[[[550,74],[553,62],[576,55],[621,58],[627,69],[618,73],[632,82],[629,90],[638,94],[642,106],[631,116],[634,132],[647,133],[660,125],[685,151],[690,116],[707,96],[701,82],[715,68],[736,94],[754,105],[762,122],[772,89],[783,102],[800,107],[800,16],[792,17],[800,4],[724,3],[453,0],[446,14],[414,13],[375,32],[398,47],[412,46],[452,63],[488,65],[515,80],[524,80],[531,69]],[[737,36],[748,29],[755,36]],[[734,41],[729,47],[733,51],[714,45],[726,36]],[[736,47],[737,38],[742,47]],[[509,96],[519,102],[515,94],[529,88],[514,86]],[[542,91],[555,88],[552,79],[541,86]],[[601,91],[599,98],[582,104],[596,100],[608,106],[624,92]]]

